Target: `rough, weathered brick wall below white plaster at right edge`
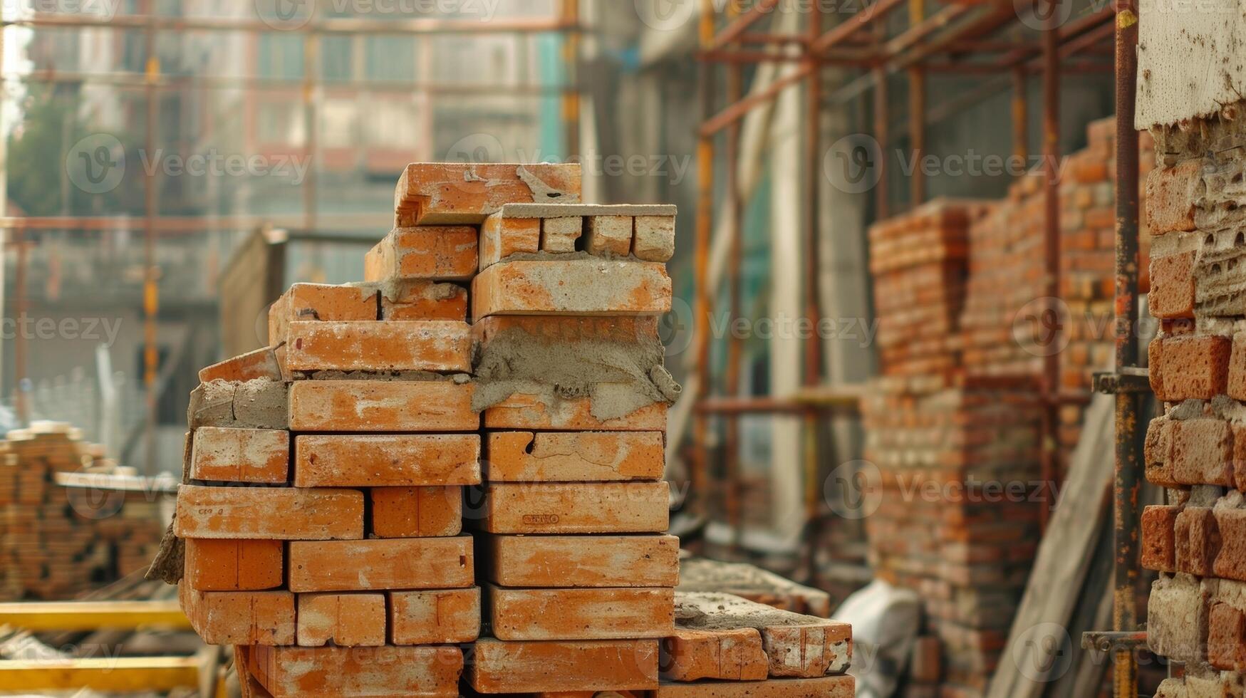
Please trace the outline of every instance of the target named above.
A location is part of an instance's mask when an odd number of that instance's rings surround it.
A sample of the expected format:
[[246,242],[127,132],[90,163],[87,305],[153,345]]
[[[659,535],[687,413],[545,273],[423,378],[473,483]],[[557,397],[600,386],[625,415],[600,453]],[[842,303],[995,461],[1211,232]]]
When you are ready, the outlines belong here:
[[[1231,107],[1240,112],[1242,105]],[[1163,696],[1241,696],[1246,683],[1246,130],[1211,117],[1154,127],[1150,380],[1164,414],[1146,430],[1141,558],[1161,572],[1150,649],[1184,663]]]

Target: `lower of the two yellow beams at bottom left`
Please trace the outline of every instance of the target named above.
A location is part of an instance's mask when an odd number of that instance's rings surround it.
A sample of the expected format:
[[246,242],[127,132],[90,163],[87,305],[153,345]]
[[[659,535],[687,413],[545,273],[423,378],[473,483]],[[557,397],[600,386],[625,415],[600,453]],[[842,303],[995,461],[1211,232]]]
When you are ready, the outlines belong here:
[[91,688],[142,692],[197,687],[198,657],[0,661],[0,692]]

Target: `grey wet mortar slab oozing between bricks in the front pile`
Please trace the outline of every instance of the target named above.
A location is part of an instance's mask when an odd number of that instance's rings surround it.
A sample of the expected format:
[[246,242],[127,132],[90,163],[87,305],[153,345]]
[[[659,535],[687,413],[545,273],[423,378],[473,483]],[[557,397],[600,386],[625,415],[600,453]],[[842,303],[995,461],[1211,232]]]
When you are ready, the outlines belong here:
[[593,418],[607,420],[653,403],[674,403],[680,389],[662,365],[664,354],[655,338],[551,342],[508,328],[477,351],[472,409],[482,411],[515,393],[551,404],[589,398]]

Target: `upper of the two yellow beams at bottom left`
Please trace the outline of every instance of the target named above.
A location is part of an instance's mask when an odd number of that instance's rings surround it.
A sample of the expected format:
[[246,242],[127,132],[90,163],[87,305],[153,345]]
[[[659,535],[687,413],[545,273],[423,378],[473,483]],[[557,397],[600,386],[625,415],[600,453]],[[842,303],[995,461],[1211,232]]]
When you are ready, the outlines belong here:
[[147,626],[191,628],[177,600],[172,598],[0,603],[0,624],[27,631],[135,629]]

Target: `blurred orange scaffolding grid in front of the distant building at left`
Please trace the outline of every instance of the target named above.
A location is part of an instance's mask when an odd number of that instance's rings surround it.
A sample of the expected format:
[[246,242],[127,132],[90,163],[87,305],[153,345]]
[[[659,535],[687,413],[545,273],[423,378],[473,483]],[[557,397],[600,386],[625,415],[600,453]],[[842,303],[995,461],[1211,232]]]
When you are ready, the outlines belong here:
[[[331,86],[335,93],[358,95],[360,91],[378,92],[422,92],[432,96],[462,95],[513,95],[513,96],[556,96],[561,101],[559,118],[568,152],[578,150],[579,141],[579,101],[577,67],[581,56],[579,34],[583,31],[579,21],[578,0],[558,0],[556,12],[549,17],[492,19],[491,21],[437,19],[437,17],[344,17],[316,16],[309,14],[307,21],[287,26],[265,17],[257,4],[254,17],[186,17],[155,14],[153,0],[140,0],[140,14],[116,16],[92,16],[86,14],[32,12],[20,17],[9,17],[0,9],[0,31],[6,27],[61,29],[61,30],[107,30],[142,31],[143,61],[142,72],[66,72],[59,70],[35,70],[5,72],[0,56],[0,76],[7,81],[29,81],[44,84],[106,85],[118,88],[141,88],[147,113],[145,133],[146,152],[156,152],[158,130],[159,96],[171,90],[221,90],[240,88],[253,95],[263,91],[298,90],[303,108],[303,125],[307,133],[305,152],[316,152],[316,133],[320,128],[319,115],[323,112],[324,88]],[[273,79],[247,76],[186,76],[162,72],[156,55],[156,37],[161,32],[211,31],[244,32],[247,35],[280,32],[298,35],[304,41],[304,66],[302,79]],[[320,41],[326,36],[446,36],[446,35],[541,35],[554,34],[563,39],[562,59],[564,80],[562,85],[455,85],[427,84],[416,81],[353,81],[350,84],[328,82],[318,77],[320,66]],[[2,34],[0,34],[2,46]],[[2,52],[2,51],[0,51]],[[2,147],[2,146],[0,146]],[[157,349],[157,317],[159,312],[161,270],[155,256],[157,239],[177,234],[198,234],[211,231],[258,231],[270,228],[300,228],[314,233],[320,226],[331,224],[338,228],[363,227],[375,224],[375,217],[360,214],[324,214],[316,211],[316,167],[309,165],[307,176],[299,183],[303,202],[302,216],[162,216],[158,213],[157,192],[159,191],[159,171],[153,168],[143,178],[143,208],[141,219],[132,216],[9,216],[7,202],[0,197],[0,231],[4,231],[5,251],[16,254],[14,278],[14,298],[10,300],[14,317],[21,315],[27,308],[26,285],[29,247],[31,238],[49,231],[142,231],[143,244],[143,366],[142,384],[146,394],[147,425],[143,431],[146,442],[146,472],[155,472],[152,462],[152,435],[155,433],[156,406],[159,400],[159,366]],[[2,294],[2,290],[0,290]],[[14,395],[14,408],[17,419],[29,420],[29,405],[20,388],[27,375],[27,348],[21,333],[14,339],[14,373],[19,385]]]

